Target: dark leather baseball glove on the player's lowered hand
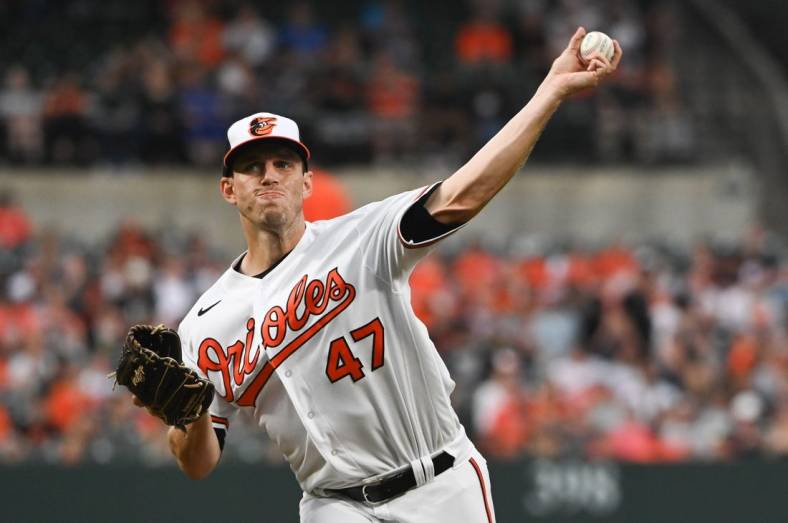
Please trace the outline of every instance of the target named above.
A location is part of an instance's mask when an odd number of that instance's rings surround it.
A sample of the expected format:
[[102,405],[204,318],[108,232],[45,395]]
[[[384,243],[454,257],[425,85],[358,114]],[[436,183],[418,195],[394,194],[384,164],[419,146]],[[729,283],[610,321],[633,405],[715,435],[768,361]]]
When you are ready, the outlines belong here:
[[112,375],[151,414],[184,431],[213,400],[213,384],[181,363],[181,339],[164,325],[133,326]]

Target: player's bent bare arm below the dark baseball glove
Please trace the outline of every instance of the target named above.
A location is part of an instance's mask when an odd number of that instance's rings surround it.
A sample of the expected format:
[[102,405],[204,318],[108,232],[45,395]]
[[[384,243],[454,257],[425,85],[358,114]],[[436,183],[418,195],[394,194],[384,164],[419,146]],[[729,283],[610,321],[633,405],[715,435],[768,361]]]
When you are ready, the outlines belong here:
[[206,477],[221,457],[219,440],[207,413],[188,425],[186,432],[171,427],[168,440],[178,466],[191,479]]

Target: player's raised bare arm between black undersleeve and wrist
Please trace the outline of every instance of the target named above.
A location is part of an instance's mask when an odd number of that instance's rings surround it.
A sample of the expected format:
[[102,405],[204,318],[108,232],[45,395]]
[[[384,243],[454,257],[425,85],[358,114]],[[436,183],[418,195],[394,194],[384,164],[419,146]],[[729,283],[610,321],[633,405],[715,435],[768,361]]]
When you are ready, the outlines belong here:
[[433,193],[425,206],[430,214],[442,223],[478,214],[528,159],[561,100],[548,77],[528,104]]

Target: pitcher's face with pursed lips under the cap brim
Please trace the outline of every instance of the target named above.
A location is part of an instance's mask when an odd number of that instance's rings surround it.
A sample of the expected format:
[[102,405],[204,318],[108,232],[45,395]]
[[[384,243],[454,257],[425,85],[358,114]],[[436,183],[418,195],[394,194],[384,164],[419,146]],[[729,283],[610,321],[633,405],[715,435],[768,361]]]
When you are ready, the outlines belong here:
[[301,157],[280,144],[255,144],[235,157],[233,176],[222,179],[222,195],[258,227],[281,230],[303,214],[312,173]]

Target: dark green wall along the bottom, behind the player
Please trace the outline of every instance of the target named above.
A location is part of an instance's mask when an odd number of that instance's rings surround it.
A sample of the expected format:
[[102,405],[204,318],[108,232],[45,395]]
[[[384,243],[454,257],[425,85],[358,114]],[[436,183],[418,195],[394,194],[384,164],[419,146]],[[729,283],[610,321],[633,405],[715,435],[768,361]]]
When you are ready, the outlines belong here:
[[[788,462],[730,465],[490,463],[508,522],[788,522]],[[220,466],[203,481],[172,467],[0,467],[0,521],[298,521],[289,469]],[[341,522],[340,522],[341,523]]]

